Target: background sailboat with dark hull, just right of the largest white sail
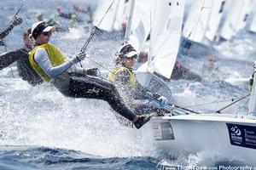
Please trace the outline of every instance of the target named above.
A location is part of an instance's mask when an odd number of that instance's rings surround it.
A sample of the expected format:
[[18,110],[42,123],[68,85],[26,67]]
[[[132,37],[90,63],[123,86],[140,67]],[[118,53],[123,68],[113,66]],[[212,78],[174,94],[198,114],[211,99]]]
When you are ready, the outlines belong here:
[[214,52],[214,49],[209,48],[207,44],[214,40],[223,14],[224,3],[224,0],[193,2],[183,26],[182,54],[198,57]]

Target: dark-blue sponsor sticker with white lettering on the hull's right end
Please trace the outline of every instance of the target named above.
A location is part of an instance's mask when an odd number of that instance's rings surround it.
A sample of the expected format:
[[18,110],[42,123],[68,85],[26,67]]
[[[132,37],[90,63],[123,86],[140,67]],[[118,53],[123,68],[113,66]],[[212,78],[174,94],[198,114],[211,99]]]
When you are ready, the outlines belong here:
[[226,123],[230,144],[256,150],[256,127]]

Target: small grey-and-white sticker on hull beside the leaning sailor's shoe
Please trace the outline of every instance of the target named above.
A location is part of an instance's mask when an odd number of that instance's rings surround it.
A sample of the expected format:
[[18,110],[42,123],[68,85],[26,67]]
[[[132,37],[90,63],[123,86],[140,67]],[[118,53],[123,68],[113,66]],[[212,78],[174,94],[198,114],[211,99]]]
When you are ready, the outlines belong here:
[[174,133],[170,122],[152,123],[154,140],[173,140]]

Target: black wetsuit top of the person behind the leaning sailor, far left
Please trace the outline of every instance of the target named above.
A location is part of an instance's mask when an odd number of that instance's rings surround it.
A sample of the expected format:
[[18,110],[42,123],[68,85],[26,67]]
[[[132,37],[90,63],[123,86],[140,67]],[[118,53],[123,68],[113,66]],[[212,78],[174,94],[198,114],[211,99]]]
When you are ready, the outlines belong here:
[[3,53],[0,55],[0,70],[8,67],[17,61],[17,68],[20,77],[29,82],[32,86],[40,84],[43,81],[41,77],[39,77],[38,73],[34,71],[32,65],[30,65],[28,60],[28,52],[27,48],[19,48],[14,51],[10,51],[8,53]]

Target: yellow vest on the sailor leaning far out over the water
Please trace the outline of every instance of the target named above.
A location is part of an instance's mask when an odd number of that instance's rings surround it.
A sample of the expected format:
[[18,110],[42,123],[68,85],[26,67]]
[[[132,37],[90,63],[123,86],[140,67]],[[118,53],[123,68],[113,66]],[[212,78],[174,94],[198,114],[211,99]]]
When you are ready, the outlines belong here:
[[36,48],[33,48],[32,51],[29,54],[29,62],[34,68],[35,71],[38,72],[38,74],[44,79],[45,82],[49,82],[51,80],[51,77],[49,77],[46,72],[43,71],[43,69],[38,65],[38,63],[34,59],[34,54],[38,50],[38,48],[44,48],[47,51],[49,61],[51,65],[57,66],[61,65],[66,61],[66,56],[62,54],[61,49],[55,47],[53,44],[50,43],[44,43],[43,45],[40,45]]

